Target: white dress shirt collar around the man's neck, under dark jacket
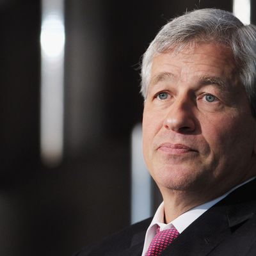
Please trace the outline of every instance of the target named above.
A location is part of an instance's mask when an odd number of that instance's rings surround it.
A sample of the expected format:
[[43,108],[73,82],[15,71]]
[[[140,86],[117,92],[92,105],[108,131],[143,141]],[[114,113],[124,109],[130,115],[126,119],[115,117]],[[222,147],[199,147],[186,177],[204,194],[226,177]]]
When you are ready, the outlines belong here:
[[198,217],[200,217],[205,211],[210,209],[214,204],[217,204],[221,199],[225,198],[225,196],[227,196],[229,193],[234,191],[234,189],[239,188],[240,186],[243,186],[244,184],[246,184],[247,182],[253,179],[255,179],[255,177],[253,177],[250,180],[246,180],[242,184],[237,185],[236,187],[230,189],[230,191],[228,191],[224,195],[218,198],[215,198],[210,202],[207,202],[202,205],[198,205],[190,209],[189,211],[184,212],[183,214],[181,214],[179,217],[177,217],[175,220],[171,221],[168,224],[164,223],[164,202],[162,202],[159,205],[156,211],[156,214],[154,215],[154,218],[147,229],[142,256],[145,256],[152,239],[154,238],[154,236],[156,236],[157,225],[160,227],[160,231],[166,230],[174,226],[179,231],[179,233],[182,233],[183,230],[185,230],[185,228],[187,228],[193,221],[195,221]]

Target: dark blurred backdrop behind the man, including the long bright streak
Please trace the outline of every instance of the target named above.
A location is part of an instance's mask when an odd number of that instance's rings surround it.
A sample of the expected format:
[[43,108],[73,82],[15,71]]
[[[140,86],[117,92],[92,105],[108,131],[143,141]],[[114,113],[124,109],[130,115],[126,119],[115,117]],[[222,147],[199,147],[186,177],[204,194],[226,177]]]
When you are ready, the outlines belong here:
[[233,1],[0,1],[0,255],[72,255],[131,223],[141,56],[208,7]]

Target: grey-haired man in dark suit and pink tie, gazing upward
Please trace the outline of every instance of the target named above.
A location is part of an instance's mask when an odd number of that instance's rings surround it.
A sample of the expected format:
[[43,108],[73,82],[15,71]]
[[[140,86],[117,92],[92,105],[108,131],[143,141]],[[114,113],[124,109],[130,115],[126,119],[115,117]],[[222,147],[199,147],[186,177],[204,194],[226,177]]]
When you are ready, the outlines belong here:
[[255,256],[255,26],[214,9],[173,19],[141,79],[143,154],[163,204],[77,255]]

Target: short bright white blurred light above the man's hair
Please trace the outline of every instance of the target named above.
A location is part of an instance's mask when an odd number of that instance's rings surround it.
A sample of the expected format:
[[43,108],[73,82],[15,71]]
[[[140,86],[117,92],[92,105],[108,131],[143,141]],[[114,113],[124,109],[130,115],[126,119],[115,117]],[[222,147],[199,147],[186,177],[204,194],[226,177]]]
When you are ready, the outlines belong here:
[[250,0],[233,0],[233,13],[243,22],[250,24],[251,21],[251,3]]

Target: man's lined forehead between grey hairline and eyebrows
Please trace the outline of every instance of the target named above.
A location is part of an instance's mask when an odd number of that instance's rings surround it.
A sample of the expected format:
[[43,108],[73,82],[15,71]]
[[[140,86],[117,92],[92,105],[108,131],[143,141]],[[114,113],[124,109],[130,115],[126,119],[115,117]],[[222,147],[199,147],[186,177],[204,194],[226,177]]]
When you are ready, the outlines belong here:
[[[164,73],[170,76],[163,76]],[[172,50],[157,54],[152,61],[150,84],[157,79],[186,80],[201,76],[223,80],[237,77],[231,49],[221,44],[199,42],[179,52]]]

